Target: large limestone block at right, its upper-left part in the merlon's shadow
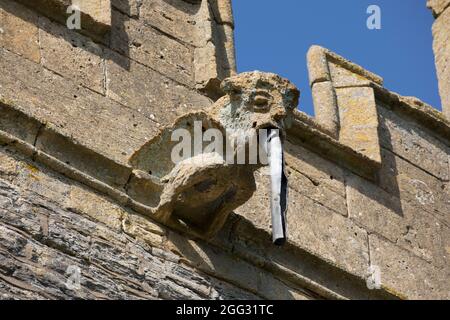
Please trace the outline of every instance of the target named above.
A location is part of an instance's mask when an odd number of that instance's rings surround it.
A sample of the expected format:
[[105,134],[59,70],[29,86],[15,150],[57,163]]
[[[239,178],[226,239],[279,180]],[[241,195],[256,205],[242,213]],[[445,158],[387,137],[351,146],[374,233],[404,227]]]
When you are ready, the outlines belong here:
[[349,216],[370,233],[377,233],[436,266],[443,264],[441,222],[372,183],[347,178]]

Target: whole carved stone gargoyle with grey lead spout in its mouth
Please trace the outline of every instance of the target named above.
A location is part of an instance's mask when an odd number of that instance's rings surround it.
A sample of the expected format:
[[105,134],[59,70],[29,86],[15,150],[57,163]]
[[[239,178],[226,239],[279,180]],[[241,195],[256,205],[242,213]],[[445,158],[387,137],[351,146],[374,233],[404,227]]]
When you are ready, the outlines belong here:
[[[255,170],[269,163],[273,238],[283,244],[287,179],[282,140],[300,93],[288,80],[261,72],[228,78],[222,89],[226,95],[210,109],[180,117],[132,155],[128,193],[152,208],[158,220],[209,238],[251,198]],[[250,150],[263,152],[250,161]]]

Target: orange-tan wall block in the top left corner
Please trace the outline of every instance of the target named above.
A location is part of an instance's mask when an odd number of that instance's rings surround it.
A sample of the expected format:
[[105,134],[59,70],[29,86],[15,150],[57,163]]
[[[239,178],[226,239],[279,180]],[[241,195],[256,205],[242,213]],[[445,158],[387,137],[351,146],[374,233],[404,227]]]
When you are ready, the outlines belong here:
[[14,1],[0,1],[0,47],[39,63],[38,16]]

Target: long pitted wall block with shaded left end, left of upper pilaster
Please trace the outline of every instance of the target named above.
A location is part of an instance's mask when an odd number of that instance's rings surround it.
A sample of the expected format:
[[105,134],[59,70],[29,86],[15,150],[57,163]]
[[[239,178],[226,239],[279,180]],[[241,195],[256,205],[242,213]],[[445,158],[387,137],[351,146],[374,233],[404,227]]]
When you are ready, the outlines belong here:
[[[114,16],[121,16],[114,12]],[[111,48],[182,84],[194,87],[193,49],[138,20],[115,18]]]

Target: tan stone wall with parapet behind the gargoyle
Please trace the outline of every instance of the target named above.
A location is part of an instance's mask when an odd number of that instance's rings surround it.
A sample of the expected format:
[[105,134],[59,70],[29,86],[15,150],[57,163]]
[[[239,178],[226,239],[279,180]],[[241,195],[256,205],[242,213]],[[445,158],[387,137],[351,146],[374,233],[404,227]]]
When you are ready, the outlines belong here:
[[127,159],[221,95],[235,72],[230,3],[111,0],[106,33],[92,34],[18,2],[0,0],[1,298],[450,298],[441,113],[314,47],[317,118],[296,112],[285,145],[289,242],[271,244],[264,169],[253,198],[199,239],[132,203]]

